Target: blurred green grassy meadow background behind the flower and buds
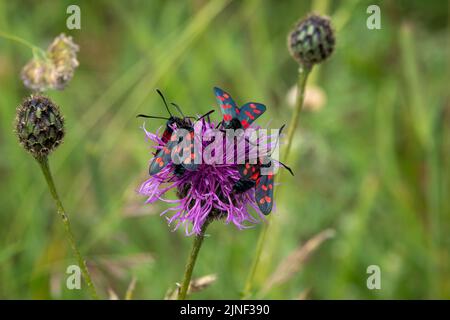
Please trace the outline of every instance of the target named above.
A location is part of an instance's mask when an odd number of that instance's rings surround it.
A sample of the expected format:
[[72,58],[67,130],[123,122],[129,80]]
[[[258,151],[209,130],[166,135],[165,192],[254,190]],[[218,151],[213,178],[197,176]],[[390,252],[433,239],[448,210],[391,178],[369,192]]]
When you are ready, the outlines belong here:
[[[297,65],[286,37],[311,10],[331,16],[337,47],[310,78],[316,94],[288,161],[295,177],[279,189],[253,297],[450,298],[447,1],[82,1],[81,30],[71,31],[74,3],[2,0],[0,30],[44,49],[61,32],[80,45],[72,82],[48,93],[67,124],[50,165],[103,298],[123,299],[133,278],[133,298],[163,298],[192,241],[159,216],[166,204],[136,194],[150,148],[135,115],[165,115],[155,88],[185,113],[217,110],[219,85],[238,103],[265,103],[261,124],[288,123]],[[366,27],[370,4],[381,30]],[[0,298],[88,298],[65,288],[75,260],[13,134],[31,56],[0,38]],[[334,237],[304,246],[327,229]],[[194,275],[218,278],[192,298],[239,298],[260,230],[214,223]],[[366,286],[369,265],[381,269],[381,290]]]

